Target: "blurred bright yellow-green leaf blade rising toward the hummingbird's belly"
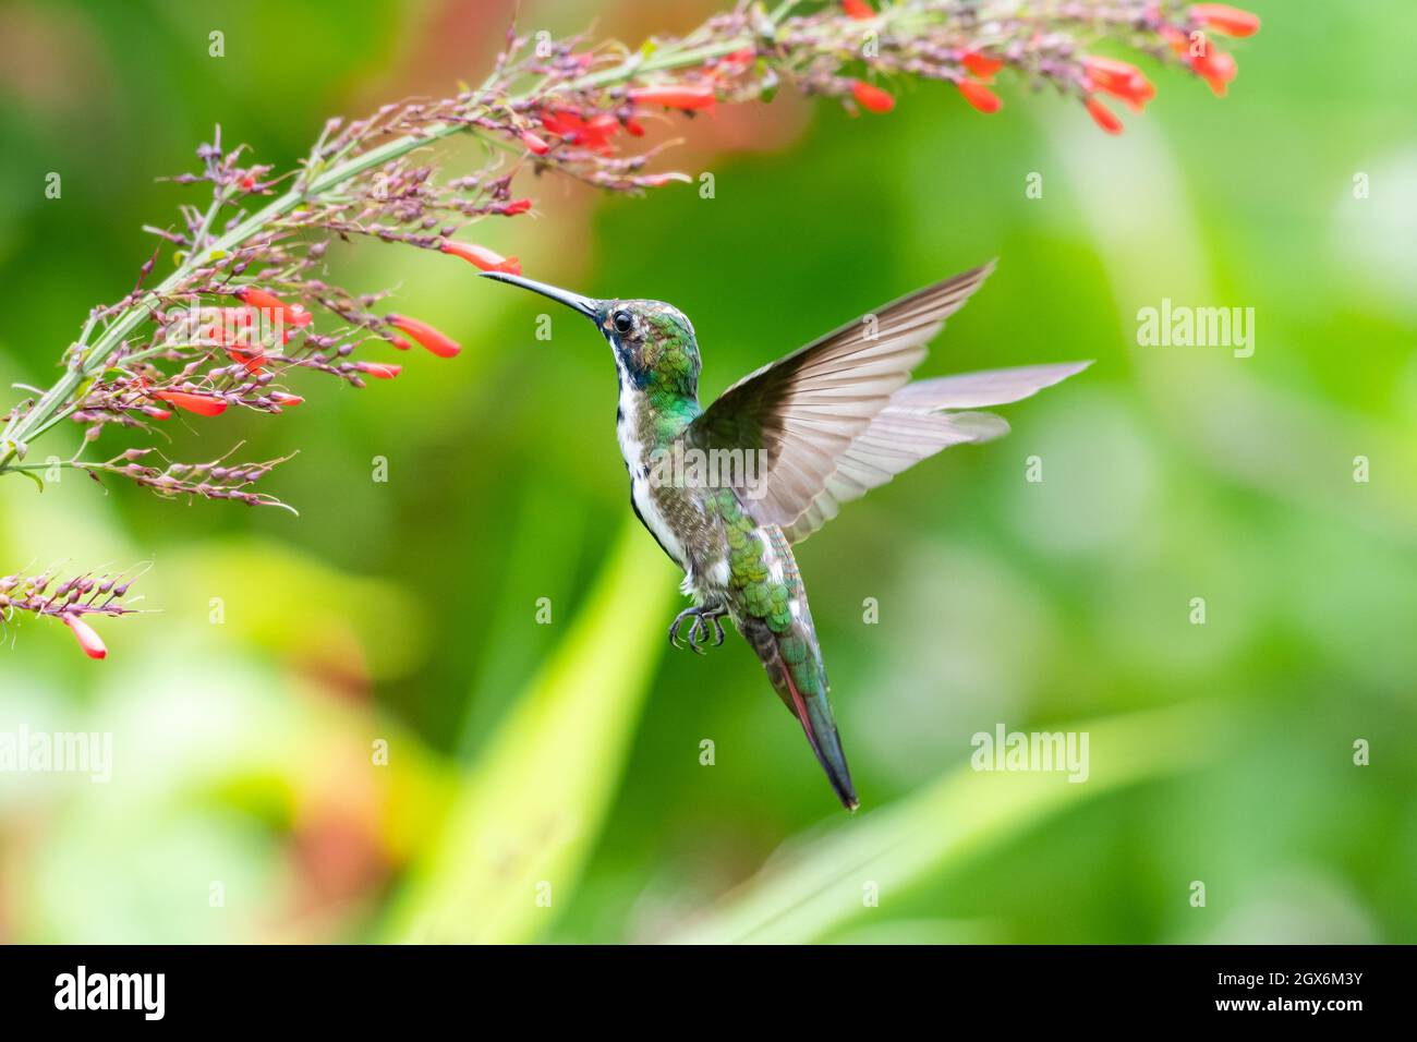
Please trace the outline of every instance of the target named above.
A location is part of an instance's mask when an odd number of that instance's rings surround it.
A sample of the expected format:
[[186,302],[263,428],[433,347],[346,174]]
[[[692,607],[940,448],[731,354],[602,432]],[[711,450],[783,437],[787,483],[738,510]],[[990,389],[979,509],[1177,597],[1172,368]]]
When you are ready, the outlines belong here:
[[570,632],[465,773],[385,940],[529,941],[565,907],[663,654],[670,580],[659,547],[626,523]]

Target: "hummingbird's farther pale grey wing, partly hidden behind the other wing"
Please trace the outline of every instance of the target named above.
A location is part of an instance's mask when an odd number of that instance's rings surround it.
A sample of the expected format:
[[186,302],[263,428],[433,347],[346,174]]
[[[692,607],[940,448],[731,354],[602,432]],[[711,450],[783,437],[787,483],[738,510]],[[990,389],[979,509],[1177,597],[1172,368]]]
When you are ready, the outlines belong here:
[[941,410],[973,410],[1022,401],[1091,364],[1064,362],[995,369],[905,384],[891,394],[890,404],[837,456],[836,469],[826,486],[806,510],[782,526],[782,532],[788,542],[801,543],[832,520],[842,503],[860,499],[921,459],[951,445],[993,441],[1009,432],[1007,421],[992,413]]

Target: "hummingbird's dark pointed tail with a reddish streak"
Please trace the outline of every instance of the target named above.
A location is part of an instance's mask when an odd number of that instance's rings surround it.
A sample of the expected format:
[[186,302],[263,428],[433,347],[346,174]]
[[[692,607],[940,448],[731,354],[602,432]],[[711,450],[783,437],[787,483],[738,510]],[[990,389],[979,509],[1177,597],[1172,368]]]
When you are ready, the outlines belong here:
[[811,622],[794,621],[786,631],[778,634],[760,618],[747,617],[734,621],[762,661],[762,668],[768,672],[772,689],[782,699],[782,705],[802,724],[808,744],[826,771],[826,780],[832,784],[836,798],[842,801],[842,807],[854,811],[860,807],[860,800],[856,798],[852,771],[846,766],[842,739],[836,733],[836,720],[828,699],[826,668],[822,665],[822,652]]

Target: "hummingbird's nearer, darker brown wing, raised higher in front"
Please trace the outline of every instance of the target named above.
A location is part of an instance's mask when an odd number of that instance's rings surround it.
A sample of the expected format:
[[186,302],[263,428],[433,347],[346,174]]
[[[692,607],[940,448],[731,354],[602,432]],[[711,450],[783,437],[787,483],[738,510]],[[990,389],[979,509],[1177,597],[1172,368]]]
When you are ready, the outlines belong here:
[[[789,529],[925,357],[993,262],[918,289],[748,374],[686,432],[704,449],[762,449],[754,515]],[[937,449],[938,451],[938,449]]]

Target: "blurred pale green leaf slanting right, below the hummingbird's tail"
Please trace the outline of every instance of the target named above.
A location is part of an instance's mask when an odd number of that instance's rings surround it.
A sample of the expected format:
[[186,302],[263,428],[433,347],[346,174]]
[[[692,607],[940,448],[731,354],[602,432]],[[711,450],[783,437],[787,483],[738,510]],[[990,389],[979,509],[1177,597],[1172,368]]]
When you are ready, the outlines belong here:
[[976,771],[969,764],[891,807],[843,819],[830,835],[774,859],[717,910],[674,941],[801,944],[853,926],[867,912],[863,886],[881,900],[1019,838],[1050,815],[1121,785],[1195,766],[1227,733],[1219,710],[1182,706],[1081,723],[1090,773]]

